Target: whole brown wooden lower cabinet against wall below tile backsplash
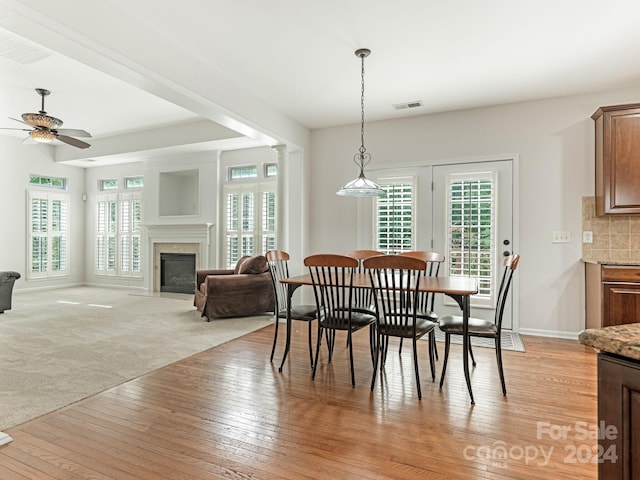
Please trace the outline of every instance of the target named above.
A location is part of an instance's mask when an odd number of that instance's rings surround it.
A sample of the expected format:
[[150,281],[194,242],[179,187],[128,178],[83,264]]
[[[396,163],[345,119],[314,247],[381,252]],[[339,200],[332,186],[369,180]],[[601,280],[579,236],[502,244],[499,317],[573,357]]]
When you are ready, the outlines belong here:
[[640,322],[640,266],[585,264],[586,327]]

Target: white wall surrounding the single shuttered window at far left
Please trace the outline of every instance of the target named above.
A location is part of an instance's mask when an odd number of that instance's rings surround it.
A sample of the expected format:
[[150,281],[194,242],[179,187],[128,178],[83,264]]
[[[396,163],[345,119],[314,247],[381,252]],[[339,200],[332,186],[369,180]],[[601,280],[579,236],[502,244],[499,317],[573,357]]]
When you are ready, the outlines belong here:
[[[23,145],[19,138],[0,135],[0,270],[20,275],[15,290],[49,288],[84,281],[84,169],[53,162],[53,147]],[[69,277],[27,280],[27,189],[29,175],[63,177],[70,195]]]

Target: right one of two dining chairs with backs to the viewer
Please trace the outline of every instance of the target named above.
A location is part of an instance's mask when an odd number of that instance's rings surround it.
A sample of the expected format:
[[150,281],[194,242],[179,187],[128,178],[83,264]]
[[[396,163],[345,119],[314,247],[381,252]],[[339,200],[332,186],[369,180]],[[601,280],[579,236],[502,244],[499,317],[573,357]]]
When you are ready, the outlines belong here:
[[[420,281],[425,276],[426,262],[419,258],[401,255],[385,255],[367,258],[364,268],[368,269],[373,287],[374,303],[378,308],[376,320],[377,341],[371,390],[375,387],[378,370],[382,375],[385,366],[390,337],[413,341],[413,365],[416,376],[418,398],[422,399],[420,372],[418,365],[418,340],[428,335],[436,324],[418,316],[414,306],[420,299]],[[429,346],[431,379],[435,380],[433,349]]]

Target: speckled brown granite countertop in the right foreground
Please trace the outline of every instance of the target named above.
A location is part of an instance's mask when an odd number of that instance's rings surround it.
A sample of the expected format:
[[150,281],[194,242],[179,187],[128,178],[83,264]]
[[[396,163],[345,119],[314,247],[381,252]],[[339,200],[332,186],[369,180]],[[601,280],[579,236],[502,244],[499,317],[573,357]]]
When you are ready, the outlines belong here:
[[640,323],[590,328],[580,332],[578,339],[602,352],[640,360]]

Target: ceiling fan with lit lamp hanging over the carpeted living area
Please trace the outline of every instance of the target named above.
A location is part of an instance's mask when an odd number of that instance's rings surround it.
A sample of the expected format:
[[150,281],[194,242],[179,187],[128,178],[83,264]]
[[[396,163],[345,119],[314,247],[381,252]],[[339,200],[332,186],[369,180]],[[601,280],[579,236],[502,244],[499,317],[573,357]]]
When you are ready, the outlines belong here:
[[44,88],[36,88],[36,92],[42,97],[42,109],[38,113],[23,113],[22,120],[9,117],[11,120],[24,123],[32,128],[30,130],[26,128],[2,128],[2,130],[22,130],[24,132],[29,132],[29,138],[26,140],[33,139],[39,143],[51,143],[53,140],[57,139],[77,148],[90,147],[91,145],[88,143],[74,138],[91,138],[91,134],[89,132],[73,128],[59,128],[62,126],[62,120],[56,117],[51,117],[44,111],[44,97],[49,95],[51,92]]

